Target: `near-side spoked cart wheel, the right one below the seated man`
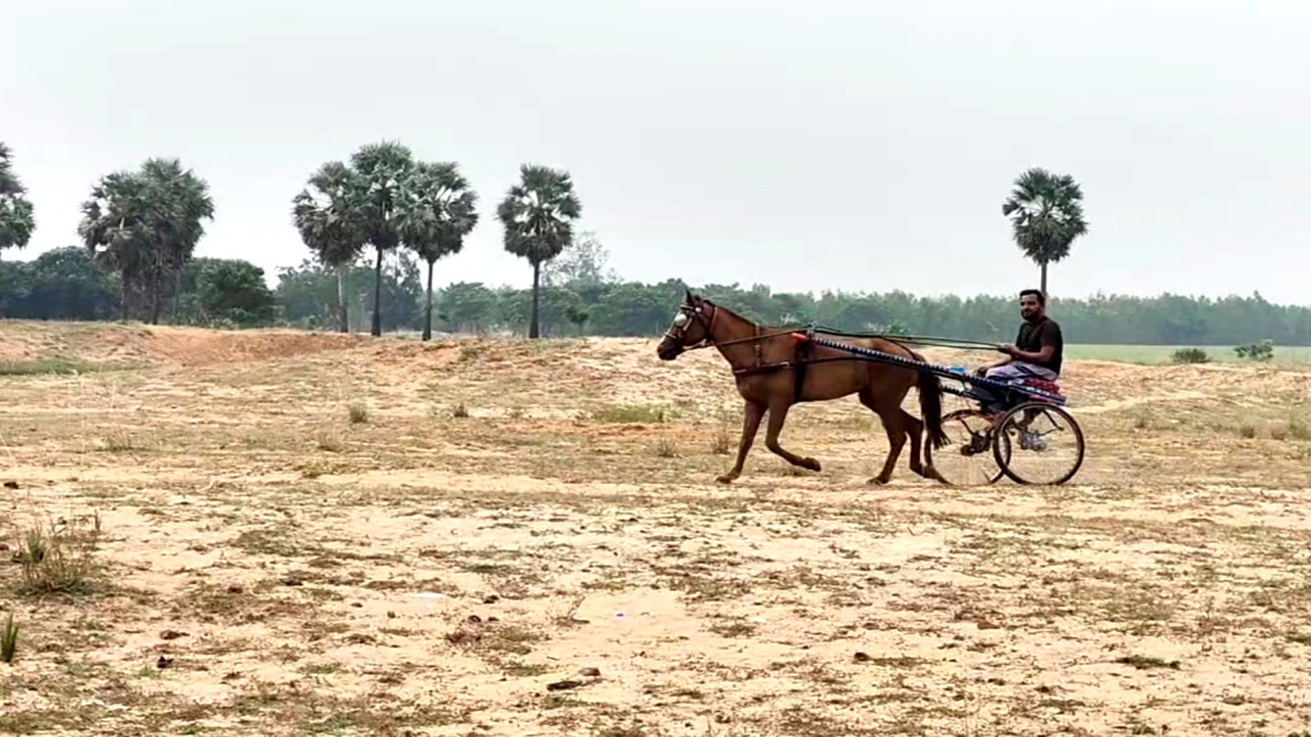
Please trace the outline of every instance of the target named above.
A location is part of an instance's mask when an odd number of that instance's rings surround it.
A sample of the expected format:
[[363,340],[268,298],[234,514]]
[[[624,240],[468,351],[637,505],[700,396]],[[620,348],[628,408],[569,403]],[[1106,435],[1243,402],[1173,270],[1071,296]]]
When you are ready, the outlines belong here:
[[1083,429],[1065,409],[1025,401],[992,431],[992,458],[1016,484],[1065,484],[1083,466]]

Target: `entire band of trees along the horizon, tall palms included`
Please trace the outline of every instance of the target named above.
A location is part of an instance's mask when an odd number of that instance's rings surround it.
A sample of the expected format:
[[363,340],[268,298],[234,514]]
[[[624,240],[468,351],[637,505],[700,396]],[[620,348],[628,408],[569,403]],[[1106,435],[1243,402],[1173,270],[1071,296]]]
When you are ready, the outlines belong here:
[[[29,262],[0,261],[0,316],[312,329],[520,332],[653,336],[663,332],[684,285],[619,279],[595,233],[576,232],[582,203],[570,174],[535,164],[496,207],[507,252],[532,269],[531,287],[434,286],[435,264],[463,249],[479,226],[479,193],[454,161],[422,161],[395,142],[324,163],[290,198],[290,226],[309,258],[281,269],[269,289],[241,260],[197,258],[215,206],[208,185],[177,159],[148,159],[101,177],[81,205],[80,245]],[[1002,205],[1020,250],[1040,266],[1070,253],[1088,229],[1083,193],[1068,174],[1028,169]],[[0,252],[22,248],[35,212],[0,143]],[[768,286],[703,285],[700,294],[771,324],[852,332],[914,332],[1008,341],[1019,320],[1011,295],[926,298],[775,292]],[[1050,299],[1071,342],[1311,345],[1311,311],[1260,295],[1194,299]]]

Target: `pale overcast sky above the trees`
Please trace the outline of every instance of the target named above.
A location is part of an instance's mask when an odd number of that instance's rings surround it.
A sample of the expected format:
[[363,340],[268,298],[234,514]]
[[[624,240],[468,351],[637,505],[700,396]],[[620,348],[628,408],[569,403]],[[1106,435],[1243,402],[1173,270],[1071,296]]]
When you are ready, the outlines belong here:
[[400,140],[481,224],[437,282],[531,283],[496,203],[568,169],[624,278],[777,291],[1037,285],[1000,207],[1074,176],[1050,292],[1311,304],[1311,3],[1295,0],[0,0],[0,140],[77,243],[96,180],[176,156],[199,256],[308,252],[291,198]]

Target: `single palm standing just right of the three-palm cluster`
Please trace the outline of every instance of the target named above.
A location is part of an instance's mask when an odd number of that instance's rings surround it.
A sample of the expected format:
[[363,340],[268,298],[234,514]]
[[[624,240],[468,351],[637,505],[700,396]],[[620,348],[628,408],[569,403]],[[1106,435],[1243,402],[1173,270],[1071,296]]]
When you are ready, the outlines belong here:
[[519,184],[510,188],[497,207],[505,226],[505,249],[532,265],[532,309],[528,337],[540,336],[538,304],[541,291],[541,265],[551,261],[573,240],[573,220],[582,214],[568,172],[524,164]]

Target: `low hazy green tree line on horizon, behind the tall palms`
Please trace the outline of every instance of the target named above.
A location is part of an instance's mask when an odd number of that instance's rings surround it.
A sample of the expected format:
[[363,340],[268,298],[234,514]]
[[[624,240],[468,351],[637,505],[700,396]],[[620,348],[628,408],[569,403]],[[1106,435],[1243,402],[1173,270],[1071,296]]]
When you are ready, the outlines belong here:
[[[764,285],[641,283],[617,278],[606,249],[578,233],[541,269],[541,336],[658,336],[669,328],[683,290],[770,324],[819,324],[852,332],[911,332],[982,341],[1009,341],[1019,324],[1016,295],[915,296],[826,291],[779,292]],[[384,330],[421,332],[427,324],[423,261],[416,254],[361,256],[345,269],[313,258],[281,269],[269,287],[264,270],[241,260],[191,258],[160,292],[161,321],[227,328],[287,325],[338,329],[349,306],[350,330],[368,330],[382,274],[379,323]],[[122,277],[102,269],[85,248],[49,250],[31,261],[0,261],[0,316],[37,320],[115,320],[122,316]],[[127,295],[130,299],[130,294]],[[433,290],[438,332],[523,334],[531,289],[450,283]],[[1070,342],[1232,346],[1270,340],[1311,345],[1311,308],[1272,304],[1259,294],[1221,299],[1183,295],[1051,298],[1049,309]]]

